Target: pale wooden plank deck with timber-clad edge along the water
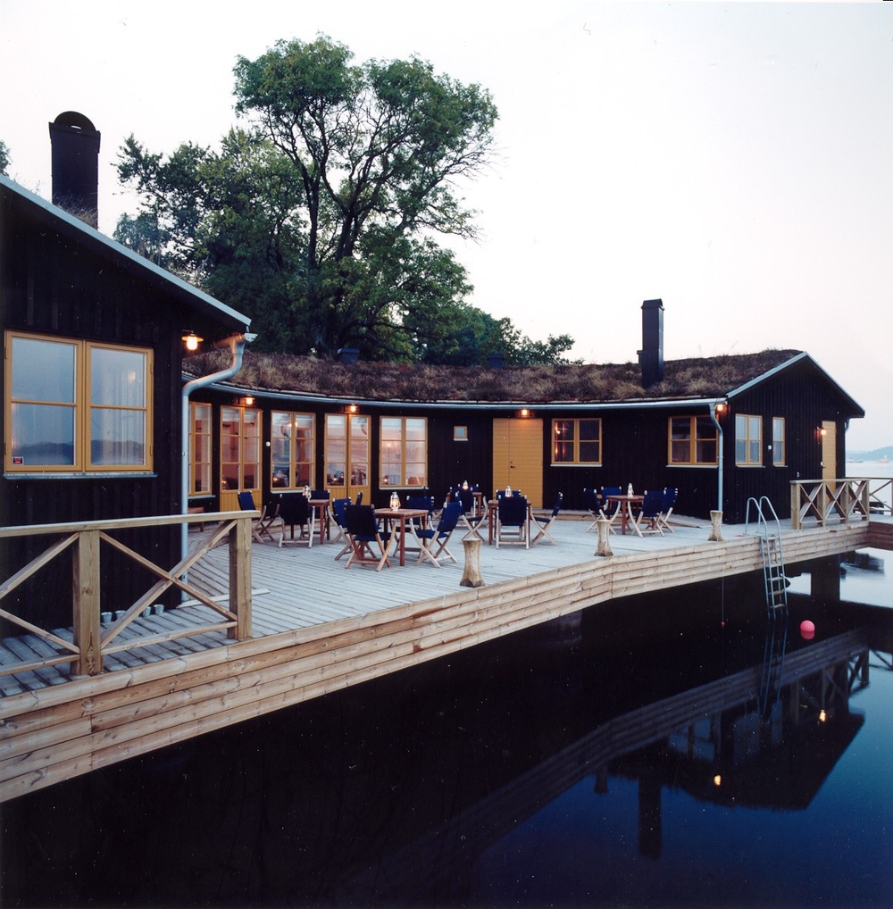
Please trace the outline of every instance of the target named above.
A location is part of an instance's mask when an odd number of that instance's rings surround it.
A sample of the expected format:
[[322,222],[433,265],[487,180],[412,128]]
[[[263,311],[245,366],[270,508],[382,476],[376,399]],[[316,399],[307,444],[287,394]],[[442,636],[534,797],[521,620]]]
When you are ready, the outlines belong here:
[[[106,672],[73,678],[69,664],[0,676],[0,798],[12,798],[226,724],[358,684],[532,624],[629,594],[740,574],[761,565],[756,536],[679,519],[675,534],[612,535],[614,555],[594,556],[597,534],[582,517],[554,525],[558,544],[481,547],[485,586],[459,585],[459,564],[416,564],[376,573],[345,570],[332,544],[255,544],[253,638],[223,631],[179,637],[107,656]],[[192,534],[197,539],[198,534]],[[867,545],[893,548],[888,519],[784,534],[789,563]],[[225,596],[228,548],[190,573]],[[127,634],[157,637],[207,624],[202,604],[150,614]],[[62,629],[60,636],[71,634]],[[32,635],[7,639],[0,662],[33,659]]]

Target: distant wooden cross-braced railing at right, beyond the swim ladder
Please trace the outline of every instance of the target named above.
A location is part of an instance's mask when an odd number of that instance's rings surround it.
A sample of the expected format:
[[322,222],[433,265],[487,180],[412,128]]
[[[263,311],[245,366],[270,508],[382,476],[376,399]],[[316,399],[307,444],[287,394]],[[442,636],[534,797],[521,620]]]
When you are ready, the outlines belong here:
[[866,521],[872,514],[891,514],[886,499],[893,479],[878,476],[848,476],[835,480],[795,480],[790,484],[791,526],[799,530],[810,518],[828,521]]

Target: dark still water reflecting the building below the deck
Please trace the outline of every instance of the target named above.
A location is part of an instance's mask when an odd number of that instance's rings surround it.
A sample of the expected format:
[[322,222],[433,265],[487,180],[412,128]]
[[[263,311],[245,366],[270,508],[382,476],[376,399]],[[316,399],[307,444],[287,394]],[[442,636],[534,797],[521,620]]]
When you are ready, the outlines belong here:
[[787,622],[761,577],[617,601],[15,799],[0,902],[889,906],[890,558],[809,566]]

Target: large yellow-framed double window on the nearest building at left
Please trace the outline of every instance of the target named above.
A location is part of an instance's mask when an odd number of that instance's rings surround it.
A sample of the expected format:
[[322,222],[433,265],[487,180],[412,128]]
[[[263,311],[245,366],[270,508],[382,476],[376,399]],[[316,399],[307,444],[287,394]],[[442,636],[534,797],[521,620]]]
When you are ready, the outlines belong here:
[[152,351],[7,332],[5,470],[152,470]]

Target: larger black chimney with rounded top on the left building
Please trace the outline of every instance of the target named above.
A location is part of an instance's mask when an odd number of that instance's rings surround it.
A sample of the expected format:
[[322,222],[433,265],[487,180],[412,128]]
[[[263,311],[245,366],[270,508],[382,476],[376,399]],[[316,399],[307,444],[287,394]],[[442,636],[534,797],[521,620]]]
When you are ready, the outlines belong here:
[[99,133],[83,114],[65,111],[50,124],[53,205],[99,226]]

